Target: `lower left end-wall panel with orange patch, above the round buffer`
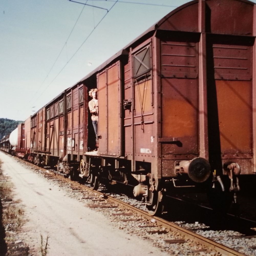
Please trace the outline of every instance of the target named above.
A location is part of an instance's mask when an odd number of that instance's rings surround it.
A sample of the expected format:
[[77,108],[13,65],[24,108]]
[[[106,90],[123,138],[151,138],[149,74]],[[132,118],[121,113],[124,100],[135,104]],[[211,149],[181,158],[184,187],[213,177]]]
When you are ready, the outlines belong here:
[[198,154],[197,88],[195,79],[162,79],[163,154]]

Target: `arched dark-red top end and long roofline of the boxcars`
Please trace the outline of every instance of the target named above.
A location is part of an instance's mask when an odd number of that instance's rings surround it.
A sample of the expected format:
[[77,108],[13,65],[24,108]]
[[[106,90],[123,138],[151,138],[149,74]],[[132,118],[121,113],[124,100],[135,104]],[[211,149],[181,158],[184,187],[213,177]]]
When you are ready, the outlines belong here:
[[[201,8],[198,6],[200,3]],[[152,36],[155,30],[255,36],[253,28],[254,5],[254,3],[247,0],[194,0],[181,5],[102,63],[98,68],[87,74],[73,86],[61,92],[44,107],[62,96],[67,90],[70,90],[77,84],[81,84],[104,69],[115,59],[127,55],[131,46],[136,44],[142,37]],[[199,13],[199,9],[201,9],[201,13]],[[200,19],[205,20],[204,24],[199,24]]]

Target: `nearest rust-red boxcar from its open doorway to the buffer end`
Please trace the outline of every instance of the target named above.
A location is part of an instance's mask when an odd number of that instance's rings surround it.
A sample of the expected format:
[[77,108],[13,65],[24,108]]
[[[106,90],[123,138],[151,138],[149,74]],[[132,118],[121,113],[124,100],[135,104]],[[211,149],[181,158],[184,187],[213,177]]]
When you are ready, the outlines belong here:
[[187,174],[222,189],[228,174],[238,191],[237,175],[256,172],[255,15],[249,1],[189,2],[95,70],[99,147],[84,175],[132,175],[149,205]]

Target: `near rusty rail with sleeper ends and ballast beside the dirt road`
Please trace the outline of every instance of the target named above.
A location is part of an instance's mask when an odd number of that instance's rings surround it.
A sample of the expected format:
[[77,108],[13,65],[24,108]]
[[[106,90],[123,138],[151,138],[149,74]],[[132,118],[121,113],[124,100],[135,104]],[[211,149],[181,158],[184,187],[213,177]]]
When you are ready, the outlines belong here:
[[[35,168],[33,164],[23,160],[20,161]],[[121,225],[116,225],[120,229],[123,229],[123,226],[129,226],[127,223],[133,223],[133,227],[136,226],[137,228],[144,230],[144,234],[146,233],[146,235],[143,235],[143,238],[151,239],[152,241],[160,239],[162,243],[166,244],[164,246],[165,248],[168,248],[168,244],[178,244],[181,246],[182,244],[189,243],[191,244],[190,247],[193,248],[191,252],[193,254],[191,255],[248,255],[183,228],[181,227],[182,225],[176,225],[159,217],[152,217],[146,211],[116,198],[116,195],[110,196],[102,191],[95,191],[86,185],[63,177],[52,170],[38,166],[36,167],[36,170],[42,173],[46,178],[59,183],[60,186],[68,186],[73,194],[82,194],[80,199],[82,201],[86,200],[87,206],[101,209],[105,212],[107,209],[107,212],[109,212],[109,216],[112,216],[111,218],[113,218],[113,221],[123,223]],[[134,231],[130,230],[128,232]],[[157,236],[157,238],[154,238],[154,236]],[[241,237],[241,239],[244,238],[245,237]],[[254,238],[254,236],[251,238]]]

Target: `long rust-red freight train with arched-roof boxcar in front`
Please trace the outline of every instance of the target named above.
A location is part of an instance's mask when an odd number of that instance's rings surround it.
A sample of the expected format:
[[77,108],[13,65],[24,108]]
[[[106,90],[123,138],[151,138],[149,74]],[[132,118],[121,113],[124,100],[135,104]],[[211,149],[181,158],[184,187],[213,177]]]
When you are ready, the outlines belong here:
[[178,7],[20,124],[16,154],[94,189],[132,184],[152,215],[167,188],[236,198],[256,173],[255,20],[246,0]]

